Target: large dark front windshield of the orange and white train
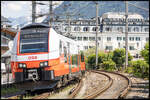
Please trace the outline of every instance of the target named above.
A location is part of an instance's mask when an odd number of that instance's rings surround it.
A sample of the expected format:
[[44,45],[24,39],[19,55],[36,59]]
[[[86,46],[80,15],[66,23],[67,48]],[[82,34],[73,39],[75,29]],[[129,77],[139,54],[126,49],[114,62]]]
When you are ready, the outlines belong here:
[[[34,31],[33,31],[34,30]],[[26,29],[20,33],[20,53],[48,52],[48,29]]]

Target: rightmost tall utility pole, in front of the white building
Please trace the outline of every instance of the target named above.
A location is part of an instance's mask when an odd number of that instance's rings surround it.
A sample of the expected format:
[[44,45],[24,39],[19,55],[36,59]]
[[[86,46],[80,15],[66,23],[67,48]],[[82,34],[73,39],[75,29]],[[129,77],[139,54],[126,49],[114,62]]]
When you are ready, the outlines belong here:
[[[125,18],[126,18],[126,27],[125,27],[125,47],[126,47],[126,59],[125,59],[125,68],[128,67],[128,1],[125,1],[125,7],[126,7],[126,13],[125,13]],[[124,68],[124,69],[125,69]]]

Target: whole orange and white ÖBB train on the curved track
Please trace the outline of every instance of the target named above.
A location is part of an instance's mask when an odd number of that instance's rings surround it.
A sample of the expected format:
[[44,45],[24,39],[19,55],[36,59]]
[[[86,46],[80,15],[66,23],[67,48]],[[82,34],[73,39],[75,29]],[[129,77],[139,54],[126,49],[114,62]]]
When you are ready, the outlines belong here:
[[[11,70],[16,83],[67,83],[85,71],[76,41],[41,23],[29,24],[13,41]],[[33,86],[32,86],[33,87]]]

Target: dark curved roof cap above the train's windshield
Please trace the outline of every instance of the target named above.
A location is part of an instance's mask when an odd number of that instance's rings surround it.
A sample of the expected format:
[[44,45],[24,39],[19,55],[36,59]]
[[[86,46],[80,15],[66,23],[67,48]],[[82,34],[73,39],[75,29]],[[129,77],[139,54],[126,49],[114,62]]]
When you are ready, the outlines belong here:
[[21,30],[28,29],[28,28],[50,28],[50,26],[43,23],[32,23],[22,27]]

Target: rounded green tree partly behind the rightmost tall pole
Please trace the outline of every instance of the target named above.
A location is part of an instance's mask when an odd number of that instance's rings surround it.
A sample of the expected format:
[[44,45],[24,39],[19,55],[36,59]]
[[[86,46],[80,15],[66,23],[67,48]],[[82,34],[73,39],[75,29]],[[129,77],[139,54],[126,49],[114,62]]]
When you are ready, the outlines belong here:
[[[128,61],[131,61],[132,58],[133,57],[130,55],[130,53],[128,53]],[[125,63],[125,49],[115,49],[113,51],[112,60],[116,63],[117,67],[123,66]]]

